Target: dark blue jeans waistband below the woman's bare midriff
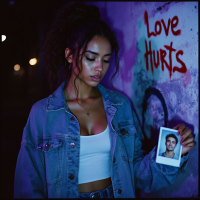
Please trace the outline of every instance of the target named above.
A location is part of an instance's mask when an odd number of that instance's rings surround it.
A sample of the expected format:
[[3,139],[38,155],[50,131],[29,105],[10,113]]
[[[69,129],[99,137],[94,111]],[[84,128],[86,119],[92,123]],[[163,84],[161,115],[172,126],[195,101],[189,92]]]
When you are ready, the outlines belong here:
[[114,198],[112,185],[91,193],[79,193],[79,198]]

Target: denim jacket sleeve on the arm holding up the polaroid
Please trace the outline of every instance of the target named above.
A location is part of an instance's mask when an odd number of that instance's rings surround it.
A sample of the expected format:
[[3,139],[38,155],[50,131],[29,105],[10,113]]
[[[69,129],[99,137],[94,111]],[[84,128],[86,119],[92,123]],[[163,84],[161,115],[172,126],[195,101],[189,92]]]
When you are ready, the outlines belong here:
[[146,193],[150,193],[174,184],[177,175],[183,172],[186,167],[188,154],[181,158],[180,167],[156,163],[157,147],[154,147],[153,150],[146,155],[141,149],[143,136],[134,112],[133,122],[136,128],[133,160],[135,187]]

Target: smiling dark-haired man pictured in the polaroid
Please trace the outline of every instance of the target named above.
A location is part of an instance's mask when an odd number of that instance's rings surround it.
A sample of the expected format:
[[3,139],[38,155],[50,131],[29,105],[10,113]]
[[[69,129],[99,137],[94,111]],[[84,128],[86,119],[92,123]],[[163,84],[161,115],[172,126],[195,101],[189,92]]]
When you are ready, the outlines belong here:
[[166,142],[165,142],[166,151],[160,153],[159,156],[178,160],[179,156],[174,153],[174,149],[176,148],[177,143],[178,143],[178,138],[173,133],[168,134],[166,136]]

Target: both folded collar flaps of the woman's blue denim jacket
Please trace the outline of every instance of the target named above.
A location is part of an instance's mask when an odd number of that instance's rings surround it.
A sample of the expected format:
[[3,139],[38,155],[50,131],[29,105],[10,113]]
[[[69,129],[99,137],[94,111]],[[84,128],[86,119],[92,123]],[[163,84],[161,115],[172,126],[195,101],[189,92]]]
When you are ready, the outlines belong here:
[[[68,110],[66,101],[65,101],[65,95],[64,95],[64,87],[66,86],[66,82],[64,81],[58,88],[57,90],[51,94],[48,97],[48,101],[47,101],[47,107],[46,110],[47,111],[53,111],[53,110],[60,110],[60,109],[66,109]],[[101,93],[104,101],[106,102],[107,105],[122,105],[123,102],[121,101],[121,99],[116,95],[115,92],[106,89],[105,87],[103,87],[102,85],[97,85],[95,87],[97,90],[99,90],[99,92]]]

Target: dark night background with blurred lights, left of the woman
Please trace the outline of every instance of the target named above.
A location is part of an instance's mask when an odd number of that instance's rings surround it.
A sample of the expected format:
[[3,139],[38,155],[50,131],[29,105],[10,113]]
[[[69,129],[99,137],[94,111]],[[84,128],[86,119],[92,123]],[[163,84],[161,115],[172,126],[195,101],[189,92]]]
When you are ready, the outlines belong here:
[[[1,35],[1,199],[13,198],[14,172],[32,105],[50,94],[41,49],[56,10],[67,1],[3,0]],[[36,65],[29,60],[36,58]],[[18,73],[14,65],[19,64]]]

